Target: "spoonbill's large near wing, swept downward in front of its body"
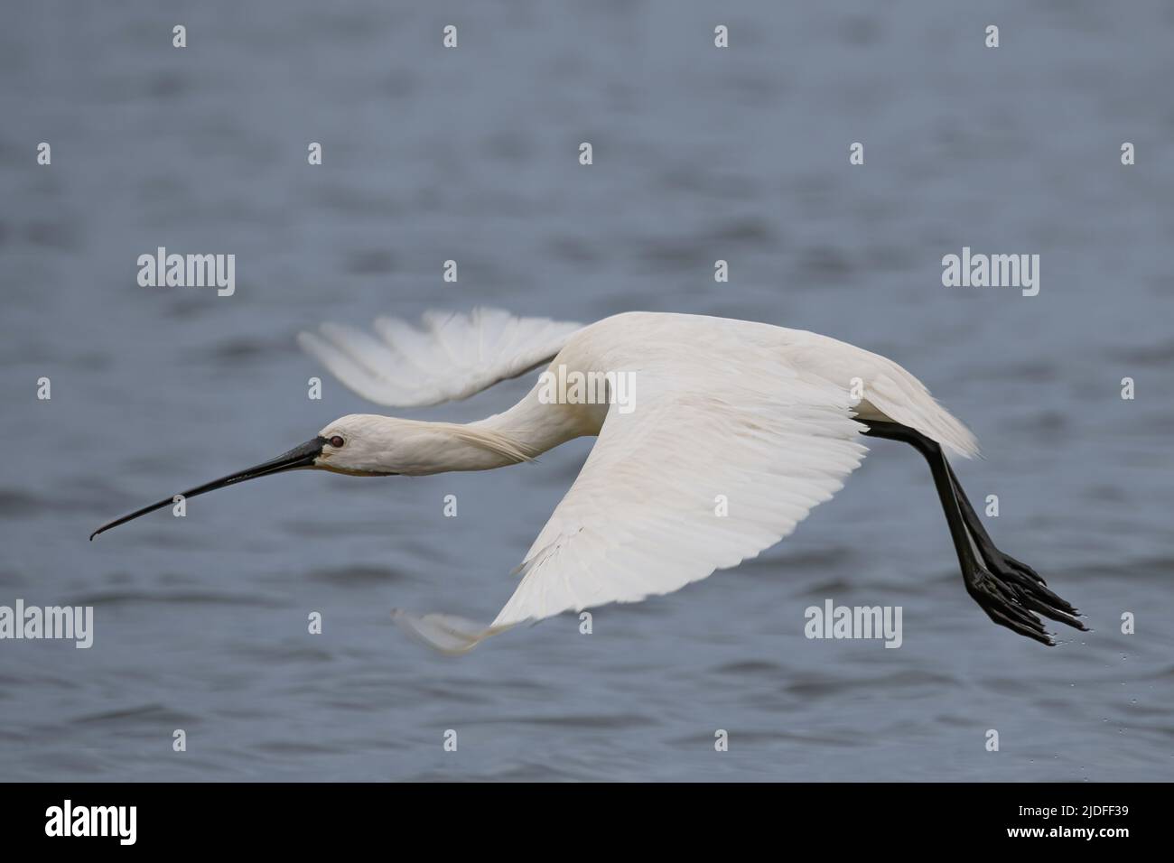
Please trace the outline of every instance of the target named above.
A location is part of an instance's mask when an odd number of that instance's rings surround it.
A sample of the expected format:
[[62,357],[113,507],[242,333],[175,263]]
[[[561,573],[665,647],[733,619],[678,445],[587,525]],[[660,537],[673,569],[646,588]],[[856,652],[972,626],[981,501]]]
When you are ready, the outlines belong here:
[[396,612],[396,621],[463,653],[526,620],[676,591],[775,545],[843,486],[866,447],[843,387],[783,364],[744,370],[709,387],[697,375],[645,376],[635,410],[610,407],[487,628],[441,614]]

